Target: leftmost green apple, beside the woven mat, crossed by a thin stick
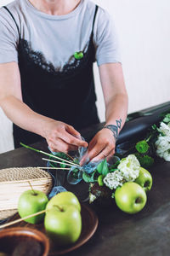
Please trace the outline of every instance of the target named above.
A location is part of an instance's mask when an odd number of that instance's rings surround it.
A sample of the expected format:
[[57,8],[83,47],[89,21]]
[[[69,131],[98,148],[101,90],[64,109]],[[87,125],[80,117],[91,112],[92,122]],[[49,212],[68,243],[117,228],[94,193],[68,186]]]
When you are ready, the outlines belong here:
[[[18,203],[18,212],[21,218],[31,215],[36,212],[40,212],[46,208],[48,203],[48,197],[42,191],[39,190],[26,190],[20,195]],[[41,222],[45,214],[42,213],[35,217],[27,218],[25,221],[31,224],[37,224]]]

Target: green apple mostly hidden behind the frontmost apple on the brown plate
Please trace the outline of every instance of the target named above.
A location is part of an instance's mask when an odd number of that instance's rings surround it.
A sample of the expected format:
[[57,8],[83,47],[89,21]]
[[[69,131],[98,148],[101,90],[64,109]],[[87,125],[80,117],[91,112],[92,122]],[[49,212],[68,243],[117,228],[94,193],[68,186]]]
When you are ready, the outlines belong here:
[[70,191],[60,192],[48,202],[46,207],[47,210],[53,208],[54,205],[72,205],[77,207],[78,211],[81,211],[81,205],[77,199],[77,196],[71,193]]

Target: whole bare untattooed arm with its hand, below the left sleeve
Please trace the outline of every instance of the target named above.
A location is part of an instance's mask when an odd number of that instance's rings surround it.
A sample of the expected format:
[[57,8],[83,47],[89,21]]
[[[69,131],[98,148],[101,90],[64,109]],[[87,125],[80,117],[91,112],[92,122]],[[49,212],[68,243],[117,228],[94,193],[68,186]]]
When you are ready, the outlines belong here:
[[67,153],[88,146],[74,127],[36,113],[22,102],[20,70],[15,62],[0,64],[0,107],[15,125],[44,137],[53,151]]

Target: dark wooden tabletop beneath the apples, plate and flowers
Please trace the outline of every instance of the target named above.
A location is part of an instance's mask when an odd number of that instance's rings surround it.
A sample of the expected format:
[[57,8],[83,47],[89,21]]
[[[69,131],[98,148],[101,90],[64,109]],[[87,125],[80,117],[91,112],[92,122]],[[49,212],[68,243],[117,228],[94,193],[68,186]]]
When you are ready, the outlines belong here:
[[[82,131],[82,136],[94,134],[100,125]],[[36,148],[47,151],[40,142]],[[22,166],[44,166],[41,155],[19,148],[0,154],[0,169]],[[93,207],[99,217],[94,236],[82,247],[68,255],[81,256],[168,256],[170,255],[170,162],[156,161],[150,169],[153,187],[144,209],[135,215],[121,212],[114,201],[111,207]],[[65,188],[79,197],[87,192],[87,185],[68,185]]]

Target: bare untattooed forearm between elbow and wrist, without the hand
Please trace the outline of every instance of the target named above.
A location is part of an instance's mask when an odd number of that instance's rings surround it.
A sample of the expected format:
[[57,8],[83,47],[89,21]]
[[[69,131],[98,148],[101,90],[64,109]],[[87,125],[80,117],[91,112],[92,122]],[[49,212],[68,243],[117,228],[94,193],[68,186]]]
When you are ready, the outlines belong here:
[[3,112],[15,125],[20,128],[37,133],[44,137],[43,127],[50,120],[31,110],[24,102],[15,96],[7,96],[0,102]]

